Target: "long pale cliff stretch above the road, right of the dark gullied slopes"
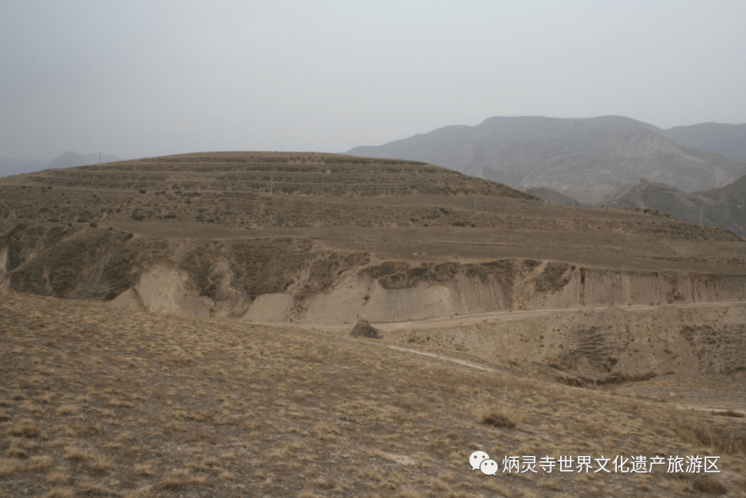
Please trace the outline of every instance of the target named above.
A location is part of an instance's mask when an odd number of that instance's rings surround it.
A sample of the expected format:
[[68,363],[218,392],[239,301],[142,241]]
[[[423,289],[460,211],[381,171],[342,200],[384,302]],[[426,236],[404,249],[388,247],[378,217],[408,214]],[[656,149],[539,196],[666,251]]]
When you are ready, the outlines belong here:
[[[504,259],[481,265],[424,264],[376,278],[385,265],[348,272],[322,293],[306,297],[262,296],[249,307],[245,319],[339,323],[362,317],[386,322],[489,311],[746,298],[744,276],[620,271]],[[391,263],[387,265],[390,267]]]

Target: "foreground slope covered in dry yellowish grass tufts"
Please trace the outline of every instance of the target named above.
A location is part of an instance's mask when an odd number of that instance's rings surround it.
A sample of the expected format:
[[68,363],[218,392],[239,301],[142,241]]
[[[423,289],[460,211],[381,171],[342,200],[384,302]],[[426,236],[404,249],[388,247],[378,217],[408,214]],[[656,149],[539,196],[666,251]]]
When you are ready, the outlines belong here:
[[[530,365],[495,363],[501,374],[490,374],[385,341],[7,291],[0,330],[0,496],[21,487],[63,498],[717,491],[665,472],[484,476],[468,464],[477,449],[498,463],[723,450],[721,468],[746,468],[738,418],[568,388]],[[37,378],[39,365],[51,374]]]

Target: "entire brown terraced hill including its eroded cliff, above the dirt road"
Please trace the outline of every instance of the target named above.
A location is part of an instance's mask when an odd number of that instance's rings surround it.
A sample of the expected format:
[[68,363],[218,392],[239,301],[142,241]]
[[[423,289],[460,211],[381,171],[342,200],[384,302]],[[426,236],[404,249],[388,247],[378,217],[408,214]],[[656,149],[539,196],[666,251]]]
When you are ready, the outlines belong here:
[[[745,246],[726,230],[560,207],[424,163],[184,154],[8,177],[0,195],[4,288],[148,312],[318,325],[746,300]],[[713,333],[740,330],[729,317]],[[602,373],[691,366],[622,361],[631,351],[615,346]]]

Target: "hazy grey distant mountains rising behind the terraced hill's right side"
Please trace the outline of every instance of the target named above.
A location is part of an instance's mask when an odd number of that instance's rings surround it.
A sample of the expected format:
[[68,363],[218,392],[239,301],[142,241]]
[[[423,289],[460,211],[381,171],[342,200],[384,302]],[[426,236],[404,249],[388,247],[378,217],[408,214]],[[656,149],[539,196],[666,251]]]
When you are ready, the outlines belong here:
[[663,130],[623,116],[495,117],[347,154],[419,160],[524,191],[545,187],[595,203],[641,178],[685,192],[725,186],[746,174],[746,163],[739,161],[744,133],[746,124]]

